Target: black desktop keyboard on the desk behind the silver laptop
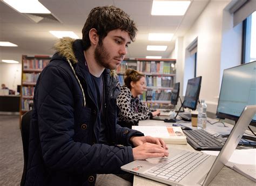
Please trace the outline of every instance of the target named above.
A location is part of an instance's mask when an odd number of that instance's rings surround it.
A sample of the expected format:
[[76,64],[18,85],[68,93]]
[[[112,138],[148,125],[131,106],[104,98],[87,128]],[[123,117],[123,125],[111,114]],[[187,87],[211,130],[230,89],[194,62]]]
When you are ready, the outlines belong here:
[[187,136],[187,142],[196,150],[221,150],[225,140],[216,137],[203,129],[183,130]]

